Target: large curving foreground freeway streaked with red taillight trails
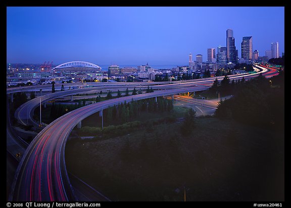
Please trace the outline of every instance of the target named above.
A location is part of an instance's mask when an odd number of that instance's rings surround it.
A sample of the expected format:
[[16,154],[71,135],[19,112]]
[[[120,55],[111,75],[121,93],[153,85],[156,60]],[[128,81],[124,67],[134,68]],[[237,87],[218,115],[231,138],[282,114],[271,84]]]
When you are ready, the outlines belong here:
[[[265,72],[269,71],[264,69]],[[263,71],[264,71],[263,70]],[[260,71],[262,72],[262,71]],[[262,72],[263,73],[263,72]],[[246,77],[237,75],[231,78]],[[257,76],[250,74],[248,78]],[[201,86],[189,87],[190,83],[178,89],[139,94],[94,103],[71,111],[45,127],[29,144],[15,174],[12,185],[13,194],[9,200],[16,201],[72,201],[76,200],[65,164],[65,145],[72,129],[87,116],[109,106],[152,97],[174,95],[178,93],[202,91],[209,88],[213,79]],[[178,84],[181,85],[181,84]],[[63,93],[63,92],[62,92]]]

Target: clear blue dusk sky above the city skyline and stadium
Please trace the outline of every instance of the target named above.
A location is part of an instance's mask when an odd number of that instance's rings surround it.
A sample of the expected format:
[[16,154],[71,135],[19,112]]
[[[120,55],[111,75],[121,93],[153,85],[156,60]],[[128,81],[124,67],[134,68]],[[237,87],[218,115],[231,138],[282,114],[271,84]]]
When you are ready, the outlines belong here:
[[226,46],[227,29],[239,57],[243,36],[284,52],[284,7],[7,7],[7,62],[182,65]]

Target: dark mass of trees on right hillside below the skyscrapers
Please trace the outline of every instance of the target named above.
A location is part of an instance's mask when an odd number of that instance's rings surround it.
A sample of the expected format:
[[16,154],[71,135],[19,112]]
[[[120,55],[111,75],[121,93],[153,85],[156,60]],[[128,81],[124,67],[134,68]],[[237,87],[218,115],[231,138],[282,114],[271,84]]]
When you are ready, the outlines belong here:
[[218,86],[213,84],[210,90],[223,92],[224,95],[229,93],[234,95],[219,103],[215,115],[256,126],[284,128],[283,80],[284,72],[281,71],[278,76],[271,79],[260,74],[249,81],[240,80],[229,83],[225,80],[224,86],[221,83]]

